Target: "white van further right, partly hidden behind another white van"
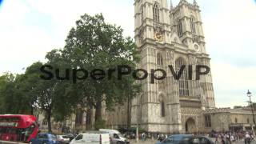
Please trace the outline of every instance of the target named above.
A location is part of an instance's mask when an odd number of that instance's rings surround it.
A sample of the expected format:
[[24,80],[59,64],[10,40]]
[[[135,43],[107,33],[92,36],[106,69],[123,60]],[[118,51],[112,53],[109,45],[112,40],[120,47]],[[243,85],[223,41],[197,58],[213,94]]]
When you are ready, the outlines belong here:
[[111,144],[129,144],[130,143],[118,130],[100,129],[99,131],[110,134]]

